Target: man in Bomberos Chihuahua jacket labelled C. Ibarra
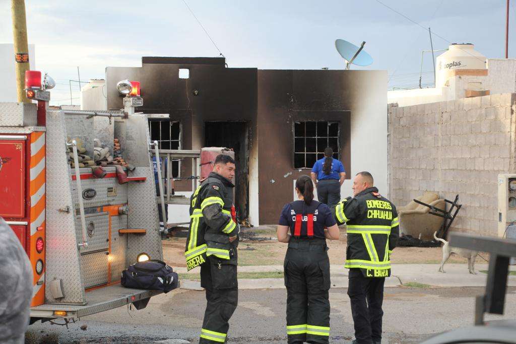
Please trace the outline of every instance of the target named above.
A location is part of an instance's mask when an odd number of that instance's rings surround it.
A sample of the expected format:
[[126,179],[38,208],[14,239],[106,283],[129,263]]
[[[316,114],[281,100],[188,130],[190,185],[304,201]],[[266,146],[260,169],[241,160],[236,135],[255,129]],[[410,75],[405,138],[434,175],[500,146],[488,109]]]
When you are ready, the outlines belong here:
[[391,275],[390,256],[399,236],[396,207],[378,193],[369,172],[353,180],[353,198],[337,204],[338,224],[346,223],[345,267],[356,339],[353,343],[380,343],[385,277]]

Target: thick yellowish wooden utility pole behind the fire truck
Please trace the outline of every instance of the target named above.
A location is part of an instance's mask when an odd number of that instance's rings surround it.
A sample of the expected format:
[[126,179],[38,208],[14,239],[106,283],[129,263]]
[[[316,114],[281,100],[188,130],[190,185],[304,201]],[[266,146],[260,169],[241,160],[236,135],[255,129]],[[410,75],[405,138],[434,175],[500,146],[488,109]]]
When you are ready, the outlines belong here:
[[11,0],[11,12],[18,102],[31,103],[25,94],[25,71],[29,70],[25,0]]

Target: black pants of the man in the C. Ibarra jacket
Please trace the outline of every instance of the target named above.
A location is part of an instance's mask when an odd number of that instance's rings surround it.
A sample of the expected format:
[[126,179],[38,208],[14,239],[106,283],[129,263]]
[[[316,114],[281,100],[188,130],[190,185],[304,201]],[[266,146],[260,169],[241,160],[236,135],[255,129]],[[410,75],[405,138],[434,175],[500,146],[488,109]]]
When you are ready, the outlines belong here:
[[349,269],[348,295],[355,338],[360,344],[382,339],[382,303],[385,277],[364,277],[360,269]]

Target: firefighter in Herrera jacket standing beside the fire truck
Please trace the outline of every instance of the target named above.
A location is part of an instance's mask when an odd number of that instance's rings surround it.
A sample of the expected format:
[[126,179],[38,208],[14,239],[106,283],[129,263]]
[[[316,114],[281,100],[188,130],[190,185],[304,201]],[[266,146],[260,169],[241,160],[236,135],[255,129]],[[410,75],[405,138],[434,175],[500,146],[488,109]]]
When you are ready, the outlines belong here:
[[238,233],[233,205],[235,160],[215,158],[213,172],[190,198],[190,226],[185,257],[188,270],[201,267],[206,311],[199,343],[223,343],[238,302],[236,279]]

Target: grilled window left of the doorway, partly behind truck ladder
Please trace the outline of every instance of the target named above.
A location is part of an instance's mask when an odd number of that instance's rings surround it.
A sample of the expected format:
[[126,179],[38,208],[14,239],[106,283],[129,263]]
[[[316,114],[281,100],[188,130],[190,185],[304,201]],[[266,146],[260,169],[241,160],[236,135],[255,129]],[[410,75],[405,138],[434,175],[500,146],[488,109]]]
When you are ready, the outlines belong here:
[[[149,133],[151,141],[158,141],[160,150],[180,150],[181,149],[181,123],[169,120],[149,120]],[[172,159],[171,176],[180,177],[180,160]],[[164,171],[162,172],[165,173]]]

